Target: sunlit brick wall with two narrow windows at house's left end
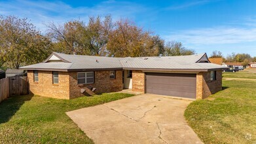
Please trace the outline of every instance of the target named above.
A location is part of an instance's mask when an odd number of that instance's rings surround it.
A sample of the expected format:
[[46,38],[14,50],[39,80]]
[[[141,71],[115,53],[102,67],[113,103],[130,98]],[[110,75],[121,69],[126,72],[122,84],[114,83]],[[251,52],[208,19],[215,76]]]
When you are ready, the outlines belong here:
[[39,82],[33,81],[33,71],[27,71],[29,92],[50,98],[69,99],[69,75],[59,72],[59,84],[53,84],[52,71],[38,71]]

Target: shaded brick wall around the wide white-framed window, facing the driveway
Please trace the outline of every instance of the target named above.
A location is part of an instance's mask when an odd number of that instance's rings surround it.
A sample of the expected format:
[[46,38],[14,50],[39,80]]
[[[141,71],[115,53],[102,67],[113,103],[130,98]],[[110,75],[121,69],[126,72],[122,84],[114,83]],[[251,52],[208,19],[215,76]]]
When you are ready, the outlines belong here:
[[84,96],[81,94],[81,89],[96,88],[95,93],[101,94],[104,92],[118,92],[122,90],[122,71],[115,71],[115,79],[109,79],[110,71],[95,71],[94,84],[77,84],[77,72],[69,73],[70,81],[70,98]]

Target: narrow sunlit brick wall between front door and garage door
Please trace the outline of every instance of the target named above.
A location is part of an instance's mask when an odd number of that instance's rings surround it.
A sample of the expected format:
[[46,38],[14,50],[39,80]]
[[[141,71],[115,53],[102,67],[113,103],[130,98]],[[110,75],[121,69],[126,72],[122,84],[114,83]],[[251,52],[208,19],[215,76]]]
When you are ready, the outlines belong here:
[[145,93],[145,73],[142,71],[132,71],[132,91]]

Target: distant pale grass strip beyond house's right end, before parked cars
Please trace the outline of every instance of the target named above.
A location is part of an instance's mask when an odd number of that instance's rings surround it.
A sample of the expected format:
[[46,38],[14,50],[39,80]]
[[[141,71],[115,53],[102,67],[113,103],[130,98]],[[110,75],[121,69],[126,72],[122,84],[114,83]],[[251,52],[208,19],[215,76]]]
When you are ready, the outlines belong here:
[[256,79],[256,69],[244,69],[244,71],[238,71],[236,73],[225,72],[224,78],[240,78],[240,79]]

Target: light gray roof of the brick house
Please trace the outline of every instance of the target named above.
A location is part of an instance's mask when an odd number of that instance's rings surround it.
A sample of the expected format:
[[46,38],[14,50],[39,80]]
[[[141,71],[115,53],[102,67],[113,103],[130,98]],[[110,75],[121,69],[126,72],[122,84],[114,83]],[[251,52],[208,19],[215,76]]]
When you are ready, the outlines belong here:
[[[81,56],[53,52],[54,56],[64,62],[48,62],[27,65],[20,69],[56,69],[64,71],[79,71],[90,69],[169,69],[169,70],[202,70],[202,69],[225,69],[222,65],[214,63],[197,63],[206,54],[191,56],[162,56],[162,57],[139,57],[139,58],[110,58],[103,56]],[[52,56],[52,55],[51,55]],[[50,58],[50,57],[49,57]]]

